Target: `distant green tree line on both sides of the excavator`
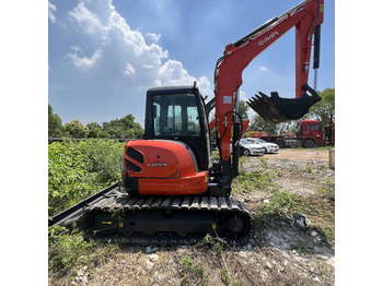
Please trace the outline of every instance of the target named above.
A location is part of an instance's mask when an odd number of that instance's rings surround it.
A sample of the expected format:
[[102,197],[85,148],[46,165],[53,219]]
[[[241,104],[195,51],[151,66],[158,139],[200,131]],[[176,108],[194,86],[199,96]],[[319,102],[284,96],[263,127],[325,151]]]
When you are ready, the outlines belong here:
[[[317,119],[322,122],[324,133],[328,142],[334,144],[335,136],[335,88],[325,88],[317,92],[322,100],[312,106],[309,114],[302,119]],[[248,106],[246,100],[240,102],[239,114],[243,120],[248,119]],[[257,114],[251,119],[247,131],[265,131],[270,135],[295,132],[298,120],[272,124],[266,122]],[[91,122],[82,124],[78,119],[62,124],[61,118],[53,112],[48,104],[48,136],[49,138],[76,138],[76,139],[139,139],[143,135],[142,127],[135,122],[132,115],[107,122]]]

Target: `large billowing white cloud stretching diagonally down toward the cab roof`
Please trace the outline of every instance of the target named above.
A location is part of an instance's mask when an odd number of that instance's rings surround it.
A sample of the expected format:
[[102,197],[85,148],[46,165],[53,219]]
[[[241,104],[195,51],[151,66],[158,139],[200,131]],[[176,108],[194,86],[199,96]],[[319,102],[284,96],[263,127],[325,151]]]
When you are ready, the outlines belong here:
[[[78,33],[83,34],[88,46],[73,46],[68,56],[83,70],[97,67],[100,72],[94,74],[103,76],[105,83],[113,79],[129,87],[148,88],[192,85],[197,81],[204,94],[212,94],[206,76],[198,80],[192,76],[182,62],[171,59],[169,51],[158,45],[161,34],[147,33],[148,40],[153,41],[148,44],[140,31],[130,28],[112,0],[80,0],[69,12],[69,19],[79,26]],[[82,50],[91,49],[95,50],[92,57],[85,57]]]

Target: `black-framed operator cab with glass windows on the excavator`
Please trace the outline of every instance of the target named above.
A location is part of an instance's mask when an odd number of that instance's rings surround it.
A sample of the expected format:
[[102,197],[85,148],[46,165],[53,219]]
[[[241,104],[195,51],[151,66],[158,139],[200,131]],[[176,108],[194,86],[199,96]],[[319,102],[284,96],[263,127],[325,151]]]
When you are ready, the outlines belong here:
[[197,169],[210,165],[207,115],[199,90],[194,86],[150,88],[147,93],[144,140],[178,141],[190,147]]

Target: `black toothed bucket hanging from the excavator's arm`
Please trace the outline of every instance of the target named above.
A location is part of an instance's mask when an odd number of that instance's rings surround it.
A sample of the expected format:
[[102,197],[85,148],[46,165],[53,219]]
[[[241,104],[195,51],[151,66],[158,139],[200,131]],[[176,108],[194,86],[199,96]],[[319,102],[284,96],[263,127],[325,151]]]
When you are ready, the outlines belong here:
[[309,112],[310,107],[322,100],[307,84],[304,84],[302,88],[309,91],[312,96],[304,94],[301,98],[281,98],[278,93],[271,92],[271,96],[268,97],[259,92],[260,96],[255,95],[247,102],[247,105],[269,123],[300,119]]

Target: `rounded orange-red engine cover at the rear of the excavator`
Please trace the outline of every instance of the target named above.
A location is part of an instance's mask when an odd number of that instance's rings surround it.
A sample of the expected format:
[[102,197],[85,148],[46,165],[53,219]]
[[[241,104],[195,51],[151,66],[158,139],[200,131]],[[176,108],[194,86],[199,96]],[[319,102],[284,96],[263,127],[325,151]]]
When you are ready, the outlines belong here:
[[209,183],[208,171],[198,170],[193,151],[178,141],[129,141],[121,174],[130,194],[196,194]]

